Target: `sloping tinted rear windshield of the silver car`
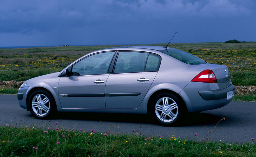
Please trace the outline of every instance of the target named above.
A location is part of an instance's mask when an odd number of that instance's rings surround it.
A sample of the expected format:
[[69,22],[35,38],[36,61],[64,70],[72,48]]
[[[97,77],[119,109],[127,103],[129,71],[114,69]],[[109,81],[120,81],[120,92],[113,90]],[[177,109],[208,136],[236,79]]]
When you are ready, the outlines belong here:
[[206,64],[204,60],[182,50],[172,48],[172,49],[164,49],[164,50],[161,50],[160,52],[165,53],[169,56],[172,56],[173,58],[176,58],[186,64],[193,64],[193,65]]

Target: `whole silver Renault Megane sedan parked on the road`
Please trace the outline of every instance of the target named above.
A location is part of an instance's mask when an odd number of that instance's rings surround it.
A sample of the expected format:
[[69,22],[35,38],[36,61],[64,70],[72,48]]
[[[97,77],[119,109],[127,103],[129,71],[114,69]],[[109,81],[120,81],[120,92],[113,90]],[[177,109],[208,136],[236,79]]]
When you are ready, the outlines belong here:
[[128,46],[97,50],[60,72],[29,79],[18,100],[39,119],[57,111],[148,113],[170,126],[186,112],[227,105],[234,93],[224,65],[175,48]]

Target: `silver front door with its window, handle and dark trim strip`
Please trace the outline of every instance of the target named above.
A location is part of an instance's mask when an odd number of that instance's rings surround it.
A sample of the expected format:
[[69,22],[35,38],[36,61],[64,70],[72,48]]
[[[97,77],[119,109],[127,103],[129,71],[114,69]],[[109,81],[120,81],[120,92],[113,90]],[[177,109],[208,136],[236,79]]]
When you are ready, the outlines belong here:
[[59,80],[63,109],[105,109],[105,86],[113,51],[90,55],[72,65],[71,76]]

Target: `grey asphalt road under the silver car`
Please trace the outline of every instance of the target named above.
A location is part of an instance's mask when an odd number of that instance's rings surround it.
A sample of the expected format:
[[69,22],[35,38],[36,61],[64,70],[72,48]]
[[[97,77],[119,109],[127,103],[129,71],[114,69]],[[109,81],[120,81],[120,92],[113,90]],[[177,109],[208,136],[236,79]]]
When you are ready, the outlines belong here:
[[[58,119],[37,120],[29,111],[19,106],[17,95],[0,94],[0,109],[0,126],[7,124],[31,127],[33,125],[43,129],[58,126],[65,130],[68,128],[76,131],[82,129],[85,132],[90,132],[92,129],[96,132],[110,130],[123,134],[140,132],[144,137],[161,135],[163,138],[180,137],[183,140],[202,141],[210,137],[210,141],[241,144],[251,142],[251,138],[256,139],[256,102],[232,101],[220,109],[188,114],[184,124],[178,127],[159,126],[144,114],[61,113],[58,114]],[[221,120],[223,117],[225,120]],[[219,120],[221,121],[215,128]],[[56,125],[55,122],[58,124]],[[209,133],[209,130],[212,132]],[[198,136],[195,136],[195,133]]]

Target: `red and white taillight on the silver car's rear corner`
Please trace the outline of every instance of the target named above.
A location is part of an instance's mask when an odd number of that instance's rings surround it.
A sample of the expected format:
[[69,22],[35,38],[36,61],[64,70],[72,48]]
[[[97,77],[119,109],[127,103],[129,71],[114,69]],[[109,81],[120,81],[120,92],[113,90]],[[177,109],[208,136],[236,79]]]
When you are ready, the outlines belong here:
[[217,83],[217,79],[216,79],[214,73],[209,69],[200,72],[191,81],[193,81],[193,82],[205,82],[205,83]]

